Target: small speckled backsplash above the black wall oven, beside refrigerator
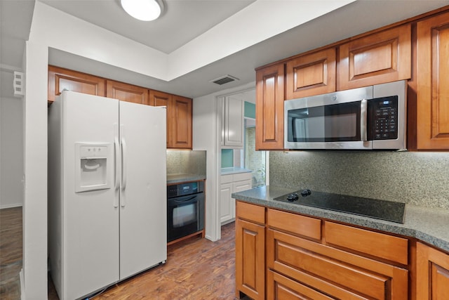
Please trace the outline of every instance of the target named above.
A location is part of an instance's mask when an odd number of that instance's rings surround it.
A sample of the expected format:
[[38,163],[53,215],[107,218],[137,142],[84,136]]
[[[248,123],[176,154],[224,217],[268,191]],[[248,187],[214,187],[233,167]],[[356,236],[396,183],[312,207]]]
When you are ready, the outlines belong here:
[[167,150],[167,175],[206,176],[206,150]]

